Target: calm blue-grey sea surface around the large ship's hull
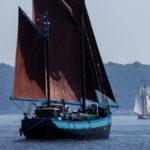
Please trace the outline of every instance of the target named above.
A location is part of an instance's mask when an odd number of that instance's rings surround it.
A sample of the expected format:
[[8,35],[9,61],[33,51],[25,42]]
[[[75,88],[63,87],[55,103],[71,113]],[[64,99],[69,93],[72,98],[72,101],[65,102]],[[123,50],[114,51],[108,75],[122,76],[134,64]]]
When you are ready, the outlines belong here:
[[0,150],[148,150],[150,120],[113,116],[109,140],[34,141],[20,137],[22,116],[0,115]]

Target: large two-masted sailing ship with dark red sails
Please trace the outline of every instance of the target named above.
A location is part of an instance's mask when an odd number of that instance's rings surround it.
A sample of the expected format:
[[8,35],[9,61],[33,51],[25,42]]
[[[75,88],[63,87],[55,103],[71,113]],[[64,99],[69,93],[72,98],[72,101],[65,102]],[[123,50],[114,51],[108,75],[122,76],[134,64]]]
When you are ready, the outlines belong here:
[[27,139],[109,137],[117,103],[84,0],[33,0],[33,20],[19,8],[11,100],[35,107]]

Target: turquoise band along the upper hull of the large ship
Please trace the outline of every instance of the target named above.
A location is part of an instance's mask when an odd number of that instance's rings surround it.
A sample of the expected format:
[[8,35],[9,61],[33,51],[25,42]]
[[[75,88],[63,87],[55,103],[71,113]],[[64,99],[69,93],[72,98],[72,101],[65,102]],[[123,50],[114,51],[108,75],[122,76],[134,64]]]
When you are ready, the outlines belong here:
[[92,128],[100,128],[111,124],[111,115],[105,118],[98,118],[88,121],[63,121],[63,120],[52,120],[53,123],[59,129],[70,129],[70,130],[87,130]]

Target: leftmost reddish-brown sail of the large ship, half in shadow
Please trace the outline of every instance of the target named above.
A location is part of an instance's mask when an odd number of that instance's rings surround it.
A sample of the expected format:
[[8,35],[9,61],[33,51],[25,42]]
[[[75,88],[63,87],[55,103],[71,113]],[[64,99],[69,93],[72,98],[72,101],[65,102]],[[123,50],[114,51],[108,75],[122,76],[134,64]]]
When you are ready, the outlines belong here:
[[13,97],[45,99],[43,38],[19,8],[19,29]]

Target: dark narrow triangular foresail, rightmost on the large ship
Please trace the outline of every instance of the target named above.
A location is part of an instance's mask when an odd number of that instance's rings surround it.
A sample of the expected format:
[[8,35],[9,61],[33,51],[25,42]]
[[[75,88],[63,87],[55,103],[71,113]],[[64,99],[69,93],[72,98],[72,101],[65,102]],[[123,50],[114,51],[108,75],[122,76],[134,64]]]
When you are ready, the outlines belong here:
[[[92,63],[93,68],[95,66],[95,78],[97,77],[97,81],[95,81],[95,88],[99,91],[101,91],[103,94],[105,94],[107,97],[109,97],[111,100],[116,102],[115,97],[113,95],[102,59],[101,55],[99,53],[99,49],[96,43],[96,39],[94,36],[94,32],[92,29],[92,25],[89,19],[89,15],[86,9],[86,6],[84,5],[83,8],[84,11],[84,21],[85,21],[85,30],[87,32],[87,40],[88,40],[88,45],[89,48],[92,51],[94,62]],[[94,64],[95,63],[95,64]],[[99,84],[98,84],[99,83]]]

